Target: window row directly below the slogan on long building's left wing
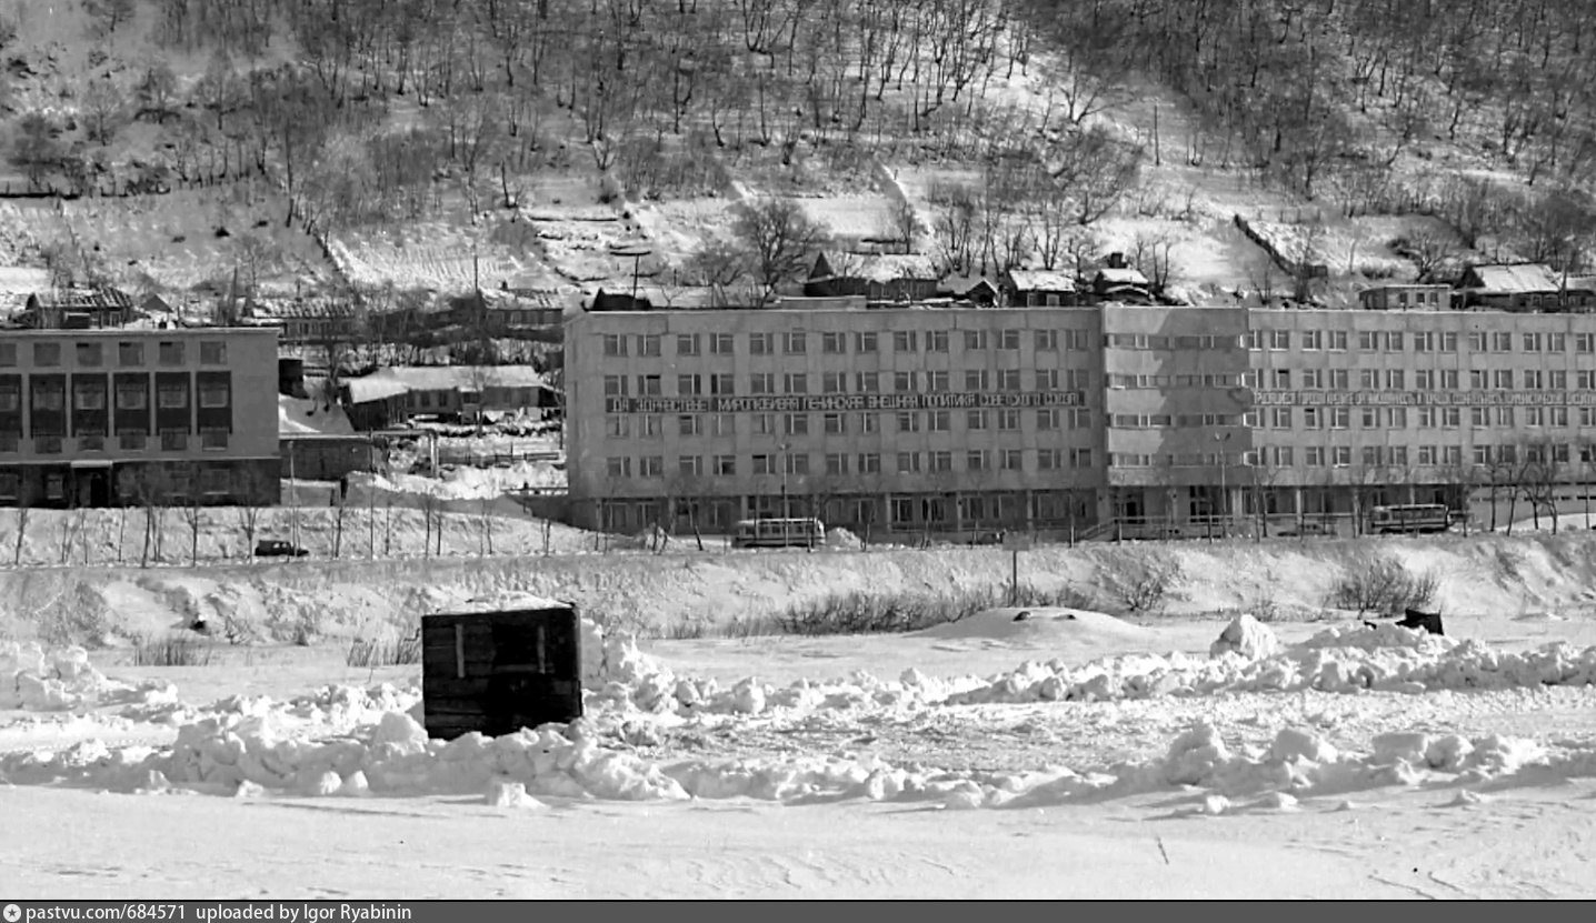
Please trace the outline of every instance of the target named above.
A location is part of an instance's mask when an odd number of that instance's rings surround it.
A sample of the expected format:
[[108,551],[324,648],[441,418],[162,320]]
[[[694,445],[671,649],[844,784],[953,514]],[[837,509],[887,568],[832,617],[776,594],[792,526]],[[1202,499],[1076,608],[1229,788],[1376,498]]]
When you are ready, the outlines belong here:
[[[899,411],[854,411],[854,413],[753,413],[749,419],[747,432],[753,435],[849,435],[881,432],[881,418],[894,421],[894,432],[953,432],[956,413],[951,410],[899,410]],[[967,432],[996,429],[1013,432],[1023,427],[1020,408],[998,410],[966,410],[964,429]],[[1044,407],[1033,413],[1033,421],[1039,430],[1053,429],[1090,429],[1092,411],[1084,407]],[[812,416],[819,416],[819,427],[812,426]],[[1211,416],[1211,414],[1210,414]],[[675,434],[681,437],[699,435],[737,435],[739,414],[731,413],[683,413],[675,418]],[[1197,424],[1192,424],[1197,426]],[[638,416],[610,414],[605,418],[605,435],[610,438],[662,438],[666,435],[666,418],[656,413]]]

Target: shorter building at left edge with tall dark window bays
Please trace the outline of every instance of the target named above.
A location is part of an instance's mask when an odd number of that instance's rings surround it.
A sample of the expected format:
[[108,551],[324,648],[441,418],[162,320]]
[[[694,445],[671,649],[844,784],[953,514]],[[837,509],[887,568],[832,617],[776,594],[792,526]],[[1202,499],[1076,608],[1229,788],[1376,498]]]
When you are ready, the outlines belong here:
[[0,504],[278,501],[278,333],[0,332]]

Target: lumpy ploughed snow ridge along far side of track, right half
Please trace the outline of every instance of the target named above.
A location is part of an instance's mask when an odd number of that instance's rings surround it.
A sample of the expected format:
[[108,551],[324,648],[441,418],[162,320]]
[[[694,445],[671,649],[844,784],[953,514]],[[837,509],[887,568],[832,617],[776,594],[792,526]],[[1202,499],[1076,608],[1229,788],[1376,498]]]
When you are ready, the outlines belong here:
[[1591,684],[1596,684],[1596,647],[1580,650],[1559,641],[1535,650],[1503,652],[1478,641],[1460,642],[1398,625],[1379,625],[1331,628],[1301,646],[1258,660],[1221,650],[1221,657],[1211,660],[1184,654],[1133,654],[1080,666],[1061,660],[1026,663],[978,689],[956,693],[946,703],[1101,701],[1304,689],[1420,693]]

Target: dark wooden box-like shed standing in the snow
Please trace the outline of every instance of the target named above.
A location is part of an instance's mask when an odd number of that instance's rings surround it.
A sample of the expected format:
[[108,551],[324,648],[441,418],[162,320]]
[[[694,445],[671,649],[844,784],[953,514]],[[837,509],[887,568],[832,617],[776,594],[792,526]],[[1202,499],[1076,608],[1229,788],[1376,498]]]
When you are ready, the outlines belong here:
[[576,607],[520,598],[423,615],[421,700],[428,735],[444,740],[581,717]]

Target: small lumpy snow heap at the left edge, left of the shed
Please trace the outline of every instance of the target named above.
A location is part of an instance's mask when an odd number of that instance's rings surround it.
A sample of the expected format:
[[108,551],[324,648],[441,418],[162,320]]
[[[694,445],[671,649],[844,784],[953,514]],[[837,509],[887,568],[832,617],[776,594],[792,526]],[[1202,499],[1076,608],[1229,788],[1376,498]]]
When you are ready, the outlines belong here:
[[129,684],[107,679],[81,647],[45,650],[38,644],[0,644],[0,708],[67,711],[112,703],[176,701],[169,682]]

